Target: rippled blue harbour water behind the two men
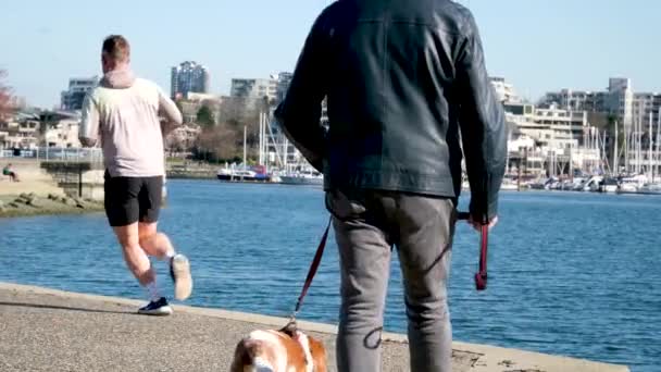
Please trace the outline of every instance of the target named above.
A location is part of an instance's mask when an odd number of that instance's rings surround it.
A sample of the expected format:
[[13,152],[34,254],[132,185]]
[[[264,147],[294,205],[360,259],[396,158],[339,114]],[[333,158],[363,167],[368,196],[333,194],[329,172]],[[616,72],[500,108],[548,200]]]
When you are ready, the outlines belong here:
[[[322,190],[171,181],[169,193],[161,226],[191,260],[188,302],[287,315],[328,218]],[[486,293],[473,286],[478,236],[457,230],[454,339],[659,371],[661,197],[506,193],[500,220]],[[145,297],[103,214],[0,219],[0,281]],[[337,272],[330,241],[301,318],[336,321]],[[386,328],[404,332],[396,262],[391,272]]]

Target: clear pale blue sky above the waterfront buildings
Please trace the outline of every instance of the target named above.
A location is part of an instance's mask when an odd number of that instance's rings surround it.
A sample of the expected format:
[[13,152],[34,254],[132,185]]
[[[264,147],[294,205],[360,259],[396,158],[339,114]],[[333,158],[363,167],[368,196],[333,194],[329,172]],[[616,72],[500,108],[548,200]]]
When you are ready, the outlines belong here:
[[[401,0],[414,1],[414,0]],[[661,1],[461,0],[473,10],[490,75],[537,99],[562,87],[603,89],[627,76],[661,91]],[[100,74],[104,36],[125,35],[136,72],[170,90],[170,67],[209,66],[212,92],[232,77],[290,71],[329,0],[1,1],[0,69],[29,103],[52,107],[72,76]],[[101,5],[102,4],[102,5]]]

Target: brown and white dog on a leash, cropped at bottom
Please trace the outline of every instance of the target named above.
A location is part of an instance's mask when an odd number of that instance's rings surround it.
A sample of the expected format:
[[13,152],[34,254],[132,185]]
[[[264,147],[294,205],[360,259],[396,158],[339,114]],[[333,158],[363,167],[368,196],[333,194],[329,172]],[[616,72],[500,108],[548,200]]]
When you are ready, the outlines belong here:
[[236,346],[229,371],[326,372],[326,349],[292,327],[253,331]]

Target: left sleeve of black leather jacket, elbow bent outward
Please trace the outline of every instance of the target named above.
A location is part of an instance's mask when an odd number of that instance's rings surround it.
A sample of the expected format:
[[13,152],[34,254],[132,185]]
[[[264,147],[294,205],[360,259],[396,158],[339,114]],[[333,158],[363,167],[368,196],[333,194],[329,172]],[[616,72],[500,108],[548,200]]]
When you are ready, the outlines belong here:
[[323,171],[326,154],[326,129],[321,124],[322,101],[326,96],[324,76],[326,47],[324,15],[314,25],[299,55],[291,84],[283,102],[275,110],[275,120],[303,157],[317,171]]

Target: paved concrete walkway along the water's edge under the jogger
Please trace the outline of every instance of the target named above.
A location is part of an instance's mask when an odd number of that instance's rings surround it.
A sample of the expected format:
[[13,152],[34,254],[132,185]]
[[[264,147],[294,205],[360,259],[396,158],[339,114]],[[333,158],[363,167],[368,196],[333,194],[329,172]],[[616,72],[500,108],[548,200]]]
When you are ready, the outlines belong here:
[[[175,306],[137,315],[142,301],[0,283],[0,371],[227,371],[238,339],[283,319]],[[335,371],[335,327],[322,337]],[[384,371],[408,371],[406,337],[384,336]],[[620,372],[625,367],[454,343],[453,372]]]

